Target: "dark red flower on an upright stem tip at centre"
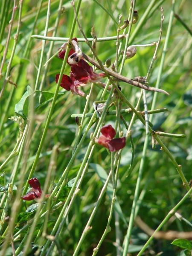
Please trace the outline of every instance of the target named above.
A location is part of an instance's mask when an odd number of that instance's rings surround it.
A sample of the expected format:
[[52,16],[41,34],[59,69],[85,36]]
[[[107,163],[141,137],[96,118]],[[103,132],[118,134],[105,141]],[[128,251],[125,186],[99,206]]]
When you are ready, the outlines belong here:
[[96,140],[97,143],[108,148],[109,151],[118,151],[125,147],[125,137],[113,139],[116,135],[115,129],[111,125],[105,125],[101,129],[102,135]]

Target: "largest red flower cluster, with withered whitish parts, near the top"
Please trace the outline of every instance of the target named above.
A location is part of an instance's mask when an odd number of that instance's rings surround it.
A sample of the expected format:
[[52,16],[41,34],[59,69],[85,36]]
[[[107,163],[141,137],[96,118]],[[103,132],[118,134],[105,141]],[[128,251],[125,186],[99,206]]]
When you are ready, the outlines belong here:
[[[67,63],[71,67],[70,76],[63,75],[60,86],[65,90],[71,90],[73,94],[85,96],[85,93],[78,89],[90,82],[97,82],[105,76],[104,73],[96,74],[84,59],[82,59],[82,52],[78,46],[77,38],[72,39],[74,49],[70,49]],[[63,50],[59,52],[58,57],[63,59],[66,52],[66,45],[62,46]],[[58,83],[59,74],[56,75],[55,81]]]

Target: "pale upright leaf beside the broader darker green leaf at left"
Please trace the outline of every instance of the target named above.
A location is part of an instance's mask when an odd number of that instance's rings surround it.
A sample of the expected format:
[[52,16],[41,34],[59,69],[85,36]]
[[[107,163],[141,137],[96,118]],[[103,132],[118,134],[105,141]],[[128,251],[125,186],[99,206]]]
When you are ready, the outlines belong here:
[[[24,112],[26,112],[26,105],[25,102],[27,100],[27,98],[33,94],[33,90],[32,88],[28,85],[27,86],[27,91],[23,94],[22,98],[20,99],[20,101],[15,105],[15,113],[21,117],[23,117],[23,119],[26,119],[27,116],[25,116]],[[24,107],[25,105],[25,107]],[[28,108],[28,106],[27,106]]]

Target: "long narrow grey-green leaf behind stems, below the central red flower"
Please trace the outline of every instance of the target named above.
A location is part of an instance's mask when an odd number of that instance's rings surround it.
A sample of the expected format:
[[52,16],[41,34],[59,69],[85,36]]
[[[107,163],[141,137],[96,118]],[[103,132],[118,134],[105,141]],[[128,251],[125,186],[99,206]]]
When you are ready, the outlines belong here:
[[[99,175],[100,180],[102,181],[102,183],[104,184],[105,181],[108,178],[107,173],[105,172],[105,170],[102,168],[102,166],[100,166],[97,163],[90,163],[90,166],[95,170],[95,172]],[[108,183],[108,187],[107,187],[107,195],[110,198],[110,200],[112,200],[112,196],[113,196],[113,186],[111,183]],[[122,212],[121,206],[119,204],[118,199],[116,198],[115,204],[114,204],[114,209],[115,211],[119,214],[119,217],[122,219],[122,221],[124,221],[124,223],[126,225],[128,225],[125,216]]]

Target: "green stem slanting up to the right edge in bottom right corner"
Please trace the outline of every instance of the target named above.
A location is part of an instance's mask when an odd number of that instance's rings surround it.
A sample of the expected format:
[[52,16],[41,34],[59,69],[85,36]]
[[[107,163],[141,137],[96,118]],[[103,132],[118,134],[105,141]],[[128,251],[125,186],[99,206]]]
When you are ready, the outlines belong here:
[[157,229],[154,231],[152,236],[148,239],[148,241],[143,246],[142,250],[137,254],[137,256],[143,255],[143,252],[146,250],[148,245],[151,243],[151,241],[154,238],[154,235],[166,224],[167,221],[175,214],[177,209],[183,204],[183,202],[186,200],[186,198],[189,197],[189,195],[192,193],[192,188],[189,189],[189,191],[183,196],[183,198],[178,202],[178,204],[175,205],[175,207],[166,215],[166,217],[163,219],[163,221],[160,223],[160,225],[157,227]]

